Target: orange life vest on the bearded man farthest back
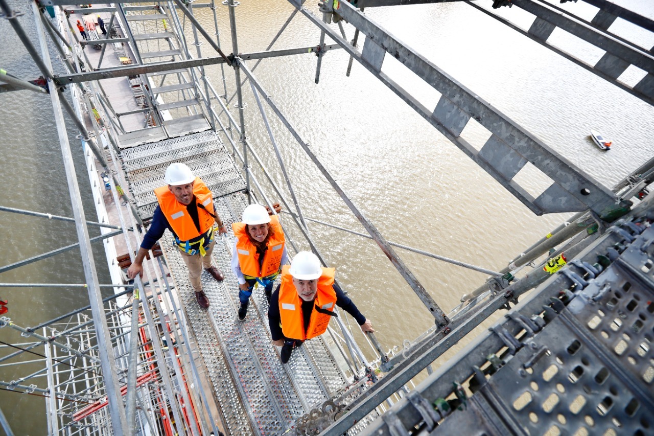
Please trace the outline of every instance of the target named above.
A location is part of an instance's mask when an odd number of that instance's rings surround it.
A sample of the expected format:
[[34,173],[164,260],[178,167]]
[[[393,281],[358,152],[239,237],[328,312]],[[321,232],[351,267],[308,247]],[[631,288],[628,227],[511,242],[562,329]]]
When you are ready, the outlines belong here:
[[[181,204],[173,195],[173,192],[170,192],[168,186],[162,186],[154,190],[154,195],[157,196],[159,202],[159,207],[162,209],[163,215],[165,215],[170,227],[173,228],[177,238],[184,241],[190,241],[194,238],[198,238],[205,234],[207,231],[213,228],[215,219],[209,212],[216,215],[213,208],[213,200],[211,191],[207,188],[207,185],[199,177],[196,177],[193,184],[193,194],[196,196],[196,203],[198,204],[198,221],[200,224],[200,231],[196,227],[193,219],[188,215],[186,206]],[[207,210],[205,211],[199,205],[204,206]]]

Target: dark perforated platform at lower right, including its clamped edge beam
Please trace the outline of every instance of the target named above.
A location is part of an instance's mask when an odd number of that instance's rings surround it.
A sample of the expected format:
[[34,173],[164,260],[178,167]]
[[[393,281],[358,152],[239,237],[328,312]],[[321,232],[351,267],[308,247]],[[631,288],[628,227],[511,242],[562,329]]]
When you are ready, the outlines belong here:
[[653,210],[608,228],[366,434],[651,435]]

